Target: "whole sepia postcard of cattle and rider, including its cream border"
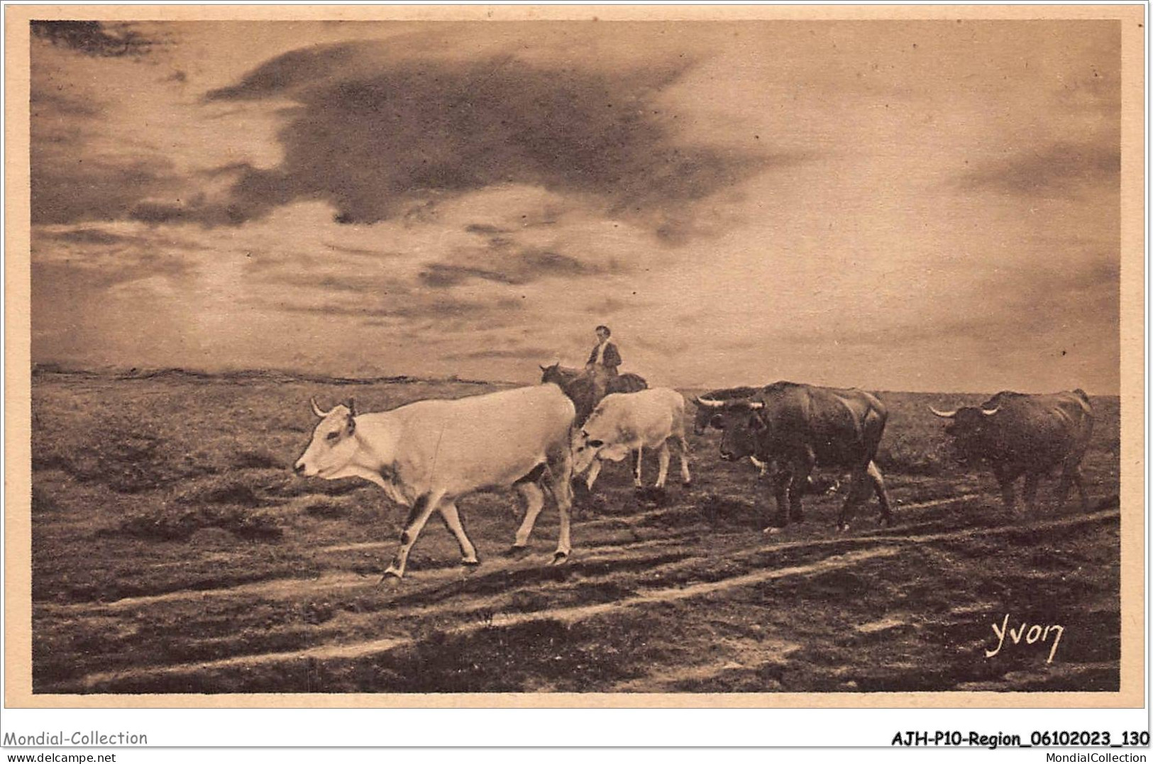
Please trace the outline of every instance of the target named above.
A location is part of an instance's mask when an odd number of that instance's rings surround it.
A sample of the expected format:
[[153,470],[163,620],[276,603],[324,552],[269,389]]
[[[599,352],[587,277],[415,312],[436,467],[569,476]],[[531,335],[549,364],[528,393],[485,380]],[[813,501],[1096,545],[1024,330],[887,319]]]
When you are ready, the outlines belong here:
[[1140,704],[1143,8],[623,8],[9,9],[9,702]]

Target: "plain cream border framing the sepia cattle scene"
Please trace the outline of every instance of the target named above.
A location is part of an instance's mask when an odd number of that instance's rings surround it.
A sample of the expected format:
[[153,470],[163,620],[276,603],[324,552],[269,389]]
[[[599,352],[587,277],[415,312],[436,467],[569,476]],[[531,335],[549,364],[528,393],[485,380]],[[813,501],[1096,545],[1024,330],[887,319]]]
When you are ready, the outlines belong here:
[[[1122,24],[1121,687],[1116,693],[228,694],[31,691],[29,33],[32,18],[736,21],[1102,18]],[[5,705],[7,708],[1141,708],[1145,695],[1145,7],[7,6],[5,60]],[[24,161],[13,158],[23,158]],[[14,192],[20,189],[21,192]]]

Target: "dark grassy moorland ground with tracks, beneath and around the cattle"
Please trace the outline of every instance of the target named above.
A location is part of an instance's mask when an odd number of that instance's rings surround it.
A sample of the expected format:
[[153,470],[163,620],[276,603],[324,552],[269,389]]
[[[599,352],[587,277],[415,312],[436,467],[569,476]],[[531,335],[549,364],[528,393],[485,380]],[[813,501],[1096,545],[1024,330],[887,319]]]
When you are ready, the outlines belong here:
[[[891,528],[871,501],[837,534],[842,487],[763,535],[756,471],[689,423],[693,486],[638,493],[627,464],[609,464],[581,498],[567,565],[548,565],[551,504],[534,553],[502,557],[520,507],[483,493],[460,502],[475,570],[431,522],[404,582],[380,587],[406,509],[362,481],[292,475],[309,396],[374,411],[492,388],[38,370],[33,691],[1118,688],[1115,398],[1093,399],[1087,512],[1055,510],[1052,479],[1035,513],[1010,515],[988,474],[952,463],[926,406],[984,396],[882,392]],[[651,484],[651,454],[645,471]]]

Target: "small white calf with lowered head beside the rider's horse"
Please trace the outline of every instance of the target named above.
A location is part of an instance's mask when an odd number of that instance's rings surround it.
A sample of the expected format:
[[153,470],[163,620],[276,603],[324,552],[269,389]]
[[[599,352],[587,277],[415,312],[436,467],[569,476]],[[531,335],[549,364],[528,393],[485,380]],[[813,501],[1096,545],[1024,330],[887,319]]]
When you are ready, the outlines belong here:
[[573,472],[588,469],[586,485],[591,490],[604,460],[619,462],[633,452],[633,484],[641,487],[643,449],[660,448],[656,487],[663,487],[669,474],[669,440],[680,447],[680,478],[689,485],[685,398],[668,387],[605,395],[585,426],[573,433]]

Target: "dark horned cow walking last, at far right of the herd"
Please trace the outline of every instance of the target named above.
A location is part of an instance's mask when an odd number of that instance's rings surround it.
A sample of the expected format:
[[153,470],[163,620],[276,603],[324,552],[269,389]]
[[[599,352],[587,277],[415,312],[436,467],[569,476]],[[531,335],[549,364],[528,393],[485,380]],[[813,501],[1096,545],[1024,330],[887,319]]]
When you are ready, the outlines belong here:
[[1064,506],[1072,485],[1080,493],[1082,507],[1088,509],[1079,466],[1093,434],[1093,407],[1084,391],[1050,395],[1003,391],[980,406],[955,411],[929,408],[951,419],[944,431],[963,463],[985,462],[993,469],[1010,512],[1016,504],[1012,484],[1018,477],[1025,476],[1025,504],[1032,510],[1038,482],[1057,467],[1062,469],[1057,509]]

